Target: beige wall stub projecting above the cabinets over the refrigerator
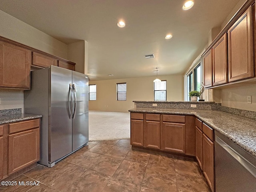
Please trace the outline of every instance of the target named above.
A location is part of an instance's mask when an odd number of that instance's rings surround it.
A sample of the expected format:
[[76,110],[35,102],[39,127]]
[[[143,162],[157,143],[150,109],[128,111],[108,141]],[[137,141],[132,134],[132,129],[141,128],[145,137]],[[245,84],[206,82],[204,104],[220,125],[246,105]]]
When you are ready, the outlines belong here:
[[87,41],[81,40],[68,44],[68,60],[76,63],[76,71],[87,74]]

